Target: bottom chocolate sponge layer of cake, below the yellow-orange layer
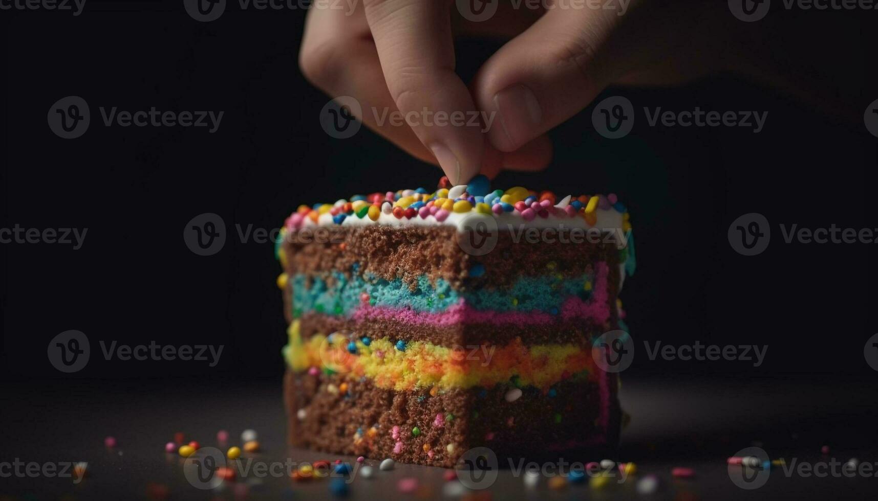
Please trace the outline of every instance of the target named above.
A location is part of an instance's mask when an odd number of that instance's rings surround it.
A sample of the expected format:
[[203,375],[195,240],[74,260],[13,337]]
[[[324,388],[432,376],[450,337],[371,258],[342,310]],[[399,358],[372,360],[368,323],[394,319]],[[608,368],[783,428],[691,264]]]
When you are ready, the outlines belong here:
[[512,385],[395,391],[368,379],[288,371],[288,436],[296,447],[446,468],[472,447],[516,459],[605,450],[618,440],[620,410],[608,396],[615,376],[604,377],[570,378],[546,392],[525,387],[511,398]]

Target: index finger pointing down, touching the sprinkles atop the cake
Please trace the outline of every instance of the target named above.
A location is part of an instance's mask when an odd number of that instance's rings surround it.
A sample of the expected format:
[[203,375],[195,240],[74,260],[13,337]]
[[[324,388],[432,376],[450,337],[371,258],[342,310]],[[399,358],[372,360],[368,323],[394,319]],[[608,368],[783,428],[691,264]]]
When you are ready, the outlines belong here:
[[[392,96],[403,116],[427,111],[438,118],[428,125],[409,122],[421,143],[434,154],[451,183],[467,183],[479,172],[485,152],[481,124],[471,122],[476,106],[455,73],[454,46],[447,0],[364,0],[378,59]],[[414,115],[409,115],[413,114]]]

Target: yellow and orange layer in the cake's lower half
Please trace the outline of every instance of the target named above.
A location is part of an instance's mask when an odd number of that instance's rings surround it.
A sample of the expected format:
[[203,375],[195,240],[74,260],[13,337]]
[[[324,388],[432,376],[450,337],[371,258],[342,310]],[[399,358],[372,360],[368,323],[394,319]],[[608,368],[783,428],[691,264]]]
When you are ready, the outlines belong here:
[[[516,339],[504,346],[443,347],[414,341],[400,350],[389,338],[371,340],[367,346],[345,333],[331,339],[315,334],[303,341],[299,320],[292,322],[288,334],[284,356],[292,370],[330,369],[365,376],[388,390],[490,388],[508,383],[512,376],[520,386],[548,389],[565,377],[583,372],[592,377],[596,372],[590,351],[574,344],[526,346]],[[349,352],[350,342],[356,353]]]

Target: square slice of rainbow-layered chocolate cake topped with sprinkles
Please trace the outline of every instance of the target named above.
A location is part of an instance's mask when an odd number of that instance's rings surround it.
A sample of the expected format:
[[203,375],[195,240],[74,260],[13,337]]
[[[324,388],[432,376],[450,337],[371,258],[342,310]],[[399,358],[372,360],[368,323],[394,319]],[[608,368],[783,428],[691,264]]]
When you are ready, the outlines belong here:
[[277,240],[291,445],[442,467],[614,447],[592,349],[625,329],[632,243],[615,195],[483,176],[300,206]]

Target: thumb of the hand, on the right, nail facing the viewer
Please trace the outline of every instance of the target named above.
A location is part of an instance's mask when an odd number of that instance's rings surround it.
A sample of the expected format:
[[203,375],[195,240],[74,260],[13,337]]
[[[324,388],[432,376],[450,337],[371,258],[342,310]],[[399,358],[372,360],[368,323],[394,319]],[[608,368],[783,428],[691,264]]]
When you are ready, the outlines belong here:
[[[582,110],[622,71],[608,36],[618,17],[592,9],[547,11],[479,69],[479,108],[496,113],[491,144],[512,152]],[[612,62],[612,64],[610,64]]]

